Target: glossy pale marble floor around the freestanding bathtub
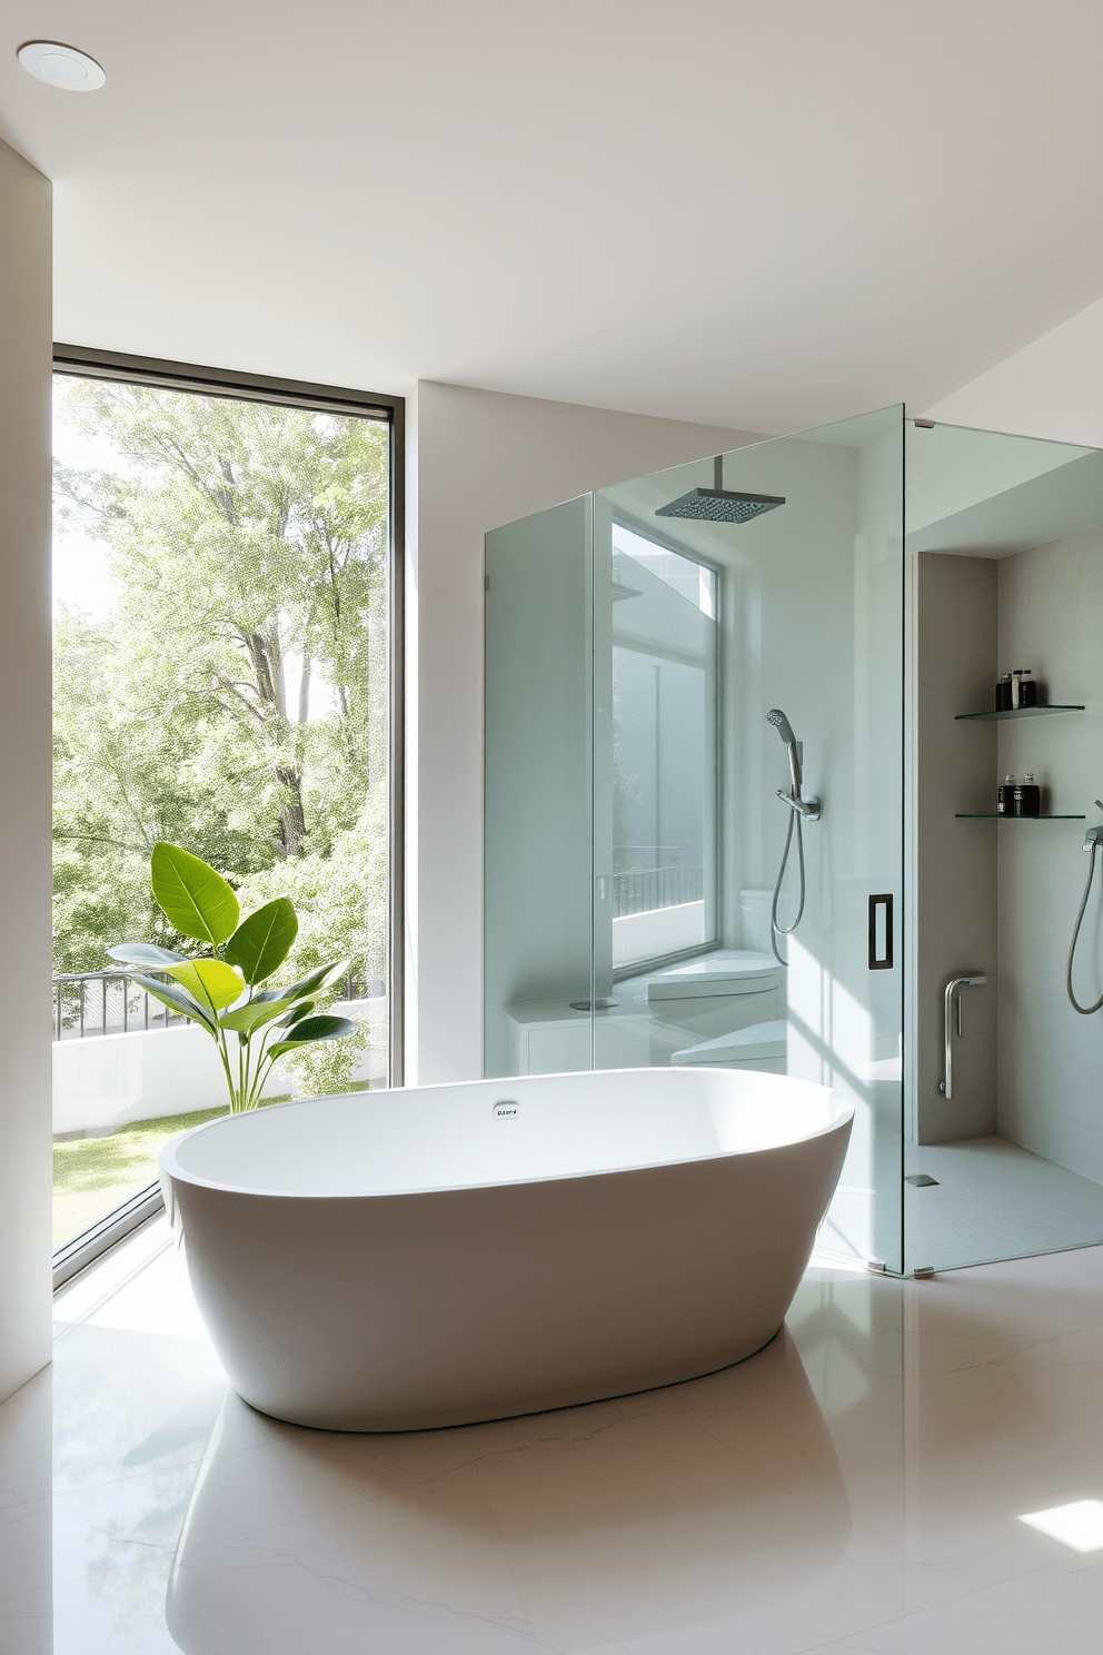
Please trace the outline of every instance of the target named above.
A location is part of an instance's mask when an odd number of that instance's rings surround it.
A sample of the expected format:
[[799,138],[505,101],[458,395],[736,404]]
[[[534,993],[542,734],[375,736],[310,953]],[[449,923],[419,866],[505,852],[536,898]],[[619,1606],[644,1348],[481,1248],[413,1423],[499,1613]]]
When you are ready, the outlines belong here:
[[405,1437],[228,1394],[162,1225],[58,1311],[0,1408],[5,1655],[1100,1648],[1101,1250],[814,1266],[736,1369]]

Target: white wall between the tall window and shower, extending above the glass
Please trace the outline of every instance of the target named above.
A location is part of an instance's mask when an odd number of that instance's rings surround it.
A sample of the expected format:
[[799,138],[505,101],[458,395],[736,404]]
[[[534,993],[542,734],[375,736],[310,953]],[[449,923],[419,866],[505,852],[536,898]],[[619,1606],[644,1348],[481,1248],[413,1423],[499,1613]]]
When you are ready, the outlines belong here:
[[407,1081],[481,1074],[483,536],[749,432],[423,381],[412,410]]

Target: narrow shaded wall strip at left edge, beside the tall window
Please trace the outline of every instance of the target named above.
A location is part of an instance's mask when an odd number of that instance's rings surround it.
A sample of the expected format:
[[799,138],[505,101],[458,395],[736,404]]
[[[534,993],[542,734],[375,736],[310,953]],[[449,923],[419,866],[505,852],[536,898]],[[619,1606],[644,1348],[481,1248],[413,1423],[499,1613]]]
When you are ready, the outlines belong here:
[[50,213],[0,142],[0,1400],[50,1360]]

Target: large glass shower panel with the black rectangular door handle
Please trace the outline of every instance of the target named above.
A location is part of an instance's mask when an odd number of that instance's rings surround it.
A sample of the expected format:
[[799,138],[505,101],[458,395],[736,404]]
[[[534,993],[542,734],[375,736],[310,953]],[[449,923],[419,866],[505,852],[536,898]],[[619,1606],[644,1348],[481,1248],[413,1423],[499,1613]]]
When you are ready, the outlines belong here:
[[898,1271],[903,410],[718,458],[595,498],[595,1063],[843,1091],[822,1245]]

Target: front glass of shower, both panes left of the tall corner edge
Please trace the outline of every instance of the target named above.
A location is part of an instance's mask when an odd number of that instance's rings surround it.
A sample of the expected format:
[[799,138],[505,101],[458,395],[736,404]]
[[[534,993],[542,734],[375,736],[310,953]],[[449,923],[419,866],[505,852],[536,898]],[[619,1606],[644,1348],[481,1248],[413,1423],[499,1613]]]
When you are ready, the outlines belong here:
[[830,1084],[855,1130],[822,1246],[891,1271],[903,467],[893,407],[486,536],[486,1076]]

